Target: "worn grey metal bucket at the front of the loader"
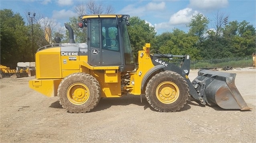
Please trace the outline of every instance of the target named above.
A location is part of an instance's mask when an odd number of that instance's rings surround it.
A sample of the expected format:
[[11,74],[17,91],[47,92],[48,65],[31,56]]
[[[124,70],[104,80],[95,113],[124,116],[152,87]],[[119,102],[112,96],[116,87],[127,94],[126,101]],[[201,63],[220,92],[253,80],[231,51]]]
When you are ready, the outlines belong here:
[[216,104],[224,109],[250,110],[235,85],[235,73],[201,70],[192,81],[204,82],[205,96],[209,105]]

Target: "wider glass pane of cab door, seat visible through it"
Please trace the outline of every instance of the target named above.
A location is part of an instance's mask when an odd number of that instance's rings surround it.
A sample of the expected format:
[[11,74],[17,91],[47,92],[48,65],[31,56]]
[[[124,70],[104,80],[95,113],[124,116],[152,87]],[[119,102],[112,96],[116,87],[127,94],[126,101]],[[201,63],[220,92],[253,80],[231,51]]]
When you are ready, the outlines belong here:
[[119,35],[116,19],[102,20],[102,43],[103,49],[119,51]]

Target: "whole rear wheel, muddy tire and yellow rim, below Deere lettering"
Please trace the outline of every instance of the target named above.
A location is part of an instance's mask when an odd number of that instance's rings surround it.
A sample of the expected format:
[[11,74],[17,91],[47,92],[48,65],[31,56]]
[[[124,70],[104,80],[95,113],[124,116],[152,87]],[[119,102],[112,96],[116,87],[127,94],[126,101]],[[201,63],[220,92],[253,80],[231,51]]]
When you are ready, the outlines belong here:
[[58,100],[71,113],[91,111],[101,99],[99,82],[90,74],[77,72],[65,77],[58,86]]

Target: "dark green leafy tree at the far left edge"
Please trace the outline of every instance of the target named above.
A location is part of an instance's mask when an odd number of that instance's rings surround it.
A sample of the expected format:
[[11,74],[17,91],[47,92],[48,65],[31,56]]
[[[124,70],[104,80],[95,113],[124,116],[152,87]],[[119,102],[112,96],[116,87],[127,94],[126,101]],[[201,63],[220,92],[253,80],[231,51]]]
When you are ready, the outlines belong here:
[[8,9],[0,10],[0,15],[1,64],[32,62],[29,30],[23,18]]

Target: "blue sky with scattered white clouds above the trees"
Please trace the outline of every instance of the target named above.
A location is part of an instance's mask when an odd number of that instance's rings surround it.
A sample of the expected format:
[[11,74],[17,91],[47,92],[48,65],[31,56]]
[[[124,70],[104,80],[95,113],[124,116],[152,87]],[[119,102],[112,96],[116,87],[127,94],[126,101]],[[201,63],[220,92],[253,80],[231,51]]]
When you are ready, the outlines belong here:
[[[83,0],[86,1],[86,0]],[[48,18],[59,26],[77,16],[74,7],[81,0],[0,0],[0,9],[11,9],[26,20],[27,12],[37,18]],[[228,21],[246,20],[256,27],[256,0],[97,0],[111,5],[116,14],[138,16],[155,26],[158,34],[178,28],[187,32],[193,14],[201,13],[211,20],[214,28],[217,11],[228,16]]]

